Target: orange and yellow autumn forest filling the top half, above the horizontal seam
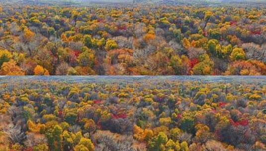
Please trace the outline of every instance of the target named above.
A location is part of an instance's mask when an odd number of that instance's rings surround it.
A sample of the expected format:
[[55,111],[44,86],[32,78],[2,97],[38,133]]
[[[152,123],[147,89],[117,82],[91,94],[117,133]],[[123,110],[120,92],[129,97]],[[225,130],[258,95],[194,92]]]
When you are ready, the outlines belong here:
[[266,75],[265,4],[12,1],[0,75]]

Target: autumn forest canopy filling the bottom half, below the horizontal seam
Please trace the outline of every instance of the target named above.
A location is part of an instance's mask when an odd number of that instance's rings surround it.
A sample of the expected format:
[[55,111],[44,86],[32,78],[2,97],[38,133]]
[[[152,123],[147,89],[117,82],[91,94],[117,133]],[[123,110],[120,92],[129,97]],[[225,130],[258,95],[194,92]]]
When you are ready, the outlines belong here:
[[1,77],[0,151],[266,150],[265,77],[72,77]]

